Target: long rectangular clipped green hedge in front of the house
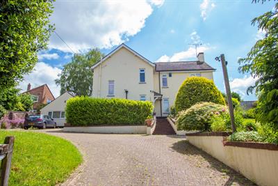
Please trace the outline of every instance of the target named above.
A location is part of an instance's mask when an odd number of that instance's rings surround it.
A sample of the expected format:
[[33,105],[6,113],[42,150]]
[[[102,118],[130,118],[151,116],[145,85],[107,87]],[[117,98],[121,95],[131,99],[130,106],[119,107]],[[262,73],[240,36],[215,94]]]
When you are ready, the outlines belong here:
[[67,100],[65,115],[71,125],[144,124],[152,116],[149,101],[75,97]]

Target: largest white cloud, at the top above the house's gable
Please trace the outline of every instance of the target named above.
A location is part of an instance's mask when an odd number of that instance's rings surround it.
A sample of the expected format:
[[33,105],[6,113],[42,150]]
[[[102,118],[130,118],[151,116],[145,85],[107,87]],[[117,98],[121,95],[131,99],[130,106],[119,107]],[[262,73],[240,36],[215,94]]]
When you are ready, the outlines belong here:
[[[56,1],[51,22],[58,35],[75,51],[110,48],[136,35],[164,1]],[[71,52],[55,33],[50,48]]]

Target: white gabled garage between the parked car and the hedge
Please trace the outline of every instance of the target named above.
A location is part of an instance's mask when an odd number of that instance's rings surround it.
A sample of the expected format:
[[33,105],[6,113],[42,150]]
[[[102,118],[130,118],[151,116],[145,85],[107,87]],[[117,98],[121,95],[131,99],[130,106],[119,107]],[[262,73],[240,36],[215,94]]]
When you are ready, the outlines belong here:
[[65,92],[47,104],[47,106],[40,109],[40,112],[43,115],[48,115],[53,118],[57,127],[63,127],[65,125],[65,105],[67,104],[67,100],[73,97],[74,95],[71,93]]

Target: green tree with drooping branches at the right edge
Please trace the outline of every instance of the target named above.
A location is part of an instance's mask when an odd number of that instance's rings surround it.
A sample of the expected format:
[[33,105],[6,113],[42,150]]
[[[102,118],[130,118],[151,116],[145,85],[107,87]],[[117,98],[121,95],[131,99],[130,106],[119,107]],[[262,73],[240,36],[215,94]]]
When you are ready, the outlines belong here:
[[278,128],[278,3],[271,11],[254,18],[252,24],[265,31],[265,38],[258,40],[247,54],[240,59],[239,72],[250,72],[256,77],[254,86],[259,97],[257,119],[261,123],[272,123]]

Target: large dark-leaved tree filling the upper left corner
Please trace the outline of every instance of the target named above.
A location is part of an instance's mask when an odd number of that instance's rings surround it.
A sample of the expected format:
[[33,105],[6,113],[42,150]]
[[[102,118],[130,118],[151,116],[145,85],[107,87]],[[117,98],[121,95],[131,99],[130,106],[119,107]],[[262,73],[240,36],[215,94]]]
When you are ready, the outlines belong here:
[[0,1],[0,90],[15,86],[38,61],[54,26],[51,0]]

